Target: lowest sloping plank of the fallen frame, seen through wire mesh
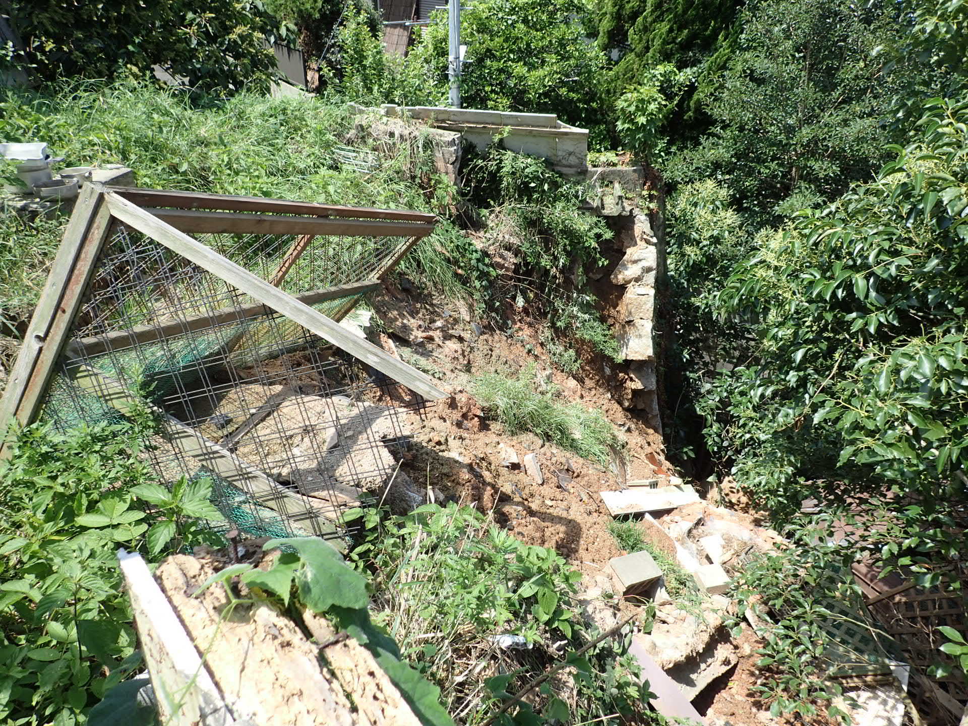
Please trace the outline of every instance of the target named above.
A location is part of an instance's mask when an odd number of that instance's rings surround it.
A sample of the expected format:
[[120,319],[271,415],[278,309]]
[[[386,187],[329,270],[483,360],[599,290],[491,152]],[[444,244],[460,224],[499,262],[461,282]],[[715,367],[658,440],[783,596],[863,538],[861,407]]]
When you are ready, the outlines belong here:
[[[70,355],[73,351],[69,349]],[[283,515],[288,521],[318,536],[336,533],[336,523],[329,507],[323,508],[314,499],[292,492],[269,478],[248,462],[232,454],[225,446],[206,439],[195,429],[186,426],[164,409],[136,396],[120,383],[90,366],[69,360],[67,373],[77,385],[93,393],[109,407],[129,413],[133,408],[144,407],[153,413],[160,424],[159,434],[175,449],[198,462],[229,482],[232,486],[256,499],[269,509]],[[336,540],[334,546],[342,545]]]

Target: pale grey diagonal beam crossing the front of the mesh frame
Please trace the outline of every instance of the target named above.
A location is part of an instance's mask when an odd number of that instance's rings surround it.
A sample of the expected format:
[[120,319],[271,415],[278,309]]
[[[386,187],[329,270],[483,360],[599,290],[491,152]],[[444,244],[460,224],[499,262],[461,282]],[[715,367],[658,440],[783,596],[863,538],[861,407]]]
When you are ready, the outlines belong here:
[[136,228],[165,245],[169,250],[186,257],[202,269],[225,280],[229,285],[252,295],[258,302],[302,325],[323,340],[346,350],[384,376],[402,383],[425,399],[437,401],[447,397],[448,394],[437,386],[433,378],[397,360],[369,341],[357,337],[335,320],[318,313],[277,287],[272,287],[265,280],[219,255],[184,232],[167,225],[163,220],[127,199],[108,192],[106,200],[111,214],[126,225]]

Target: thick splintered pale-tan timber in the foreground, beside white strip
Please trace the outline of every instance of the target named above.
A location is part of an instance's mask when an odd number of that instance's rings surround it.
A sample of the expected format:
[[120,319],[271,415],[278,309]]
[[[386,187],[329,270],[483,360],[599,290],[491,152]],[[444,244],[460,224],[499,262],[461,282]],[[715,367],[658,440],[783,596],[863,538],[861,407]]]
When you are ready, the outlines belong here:
[[[264,558],[259,566],[265,568],[271,559]],[[327,620],[307,613],[313,642],[272,603],[240,603],[229,611],[221,586],[193,596],[218,566],[213,560],[176,555],[158,565],[155,579],[196,649],[204,653],[205,667],[239,719],[236,723],[419,726],[369,650]]]

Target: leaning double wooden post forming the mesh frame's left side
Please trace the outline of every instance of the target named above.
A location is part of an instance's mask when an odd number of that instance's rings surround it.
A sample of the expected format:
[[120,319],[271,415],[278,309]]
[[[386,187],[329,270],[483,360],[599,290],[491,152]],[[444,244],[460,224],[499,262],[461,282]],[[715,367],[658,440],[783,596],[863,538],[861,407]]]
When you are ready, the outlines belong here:
[[[11,422],[27,426],[40,411],[110,223],[103,190],[94,184],[85,185],[0,400],[0,440]],[[0,456],[8,454],[8,448],[0,450]]]

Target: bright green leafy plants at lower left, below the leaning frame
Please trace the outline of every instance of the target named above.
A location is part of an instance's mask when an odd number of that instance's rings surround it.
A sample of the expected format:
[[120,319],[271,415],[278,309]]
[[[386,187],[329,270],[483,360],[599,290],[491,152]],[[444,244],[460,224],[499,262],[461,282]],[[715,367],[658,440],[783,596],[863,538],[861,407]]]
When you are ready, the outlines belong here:
[[84,723],[139,662],[119,547],[160,558],[221,537],[211,482],[173,491],[138,456],[144,424],[54,435],[35,425],[0,462],[0,720]]

